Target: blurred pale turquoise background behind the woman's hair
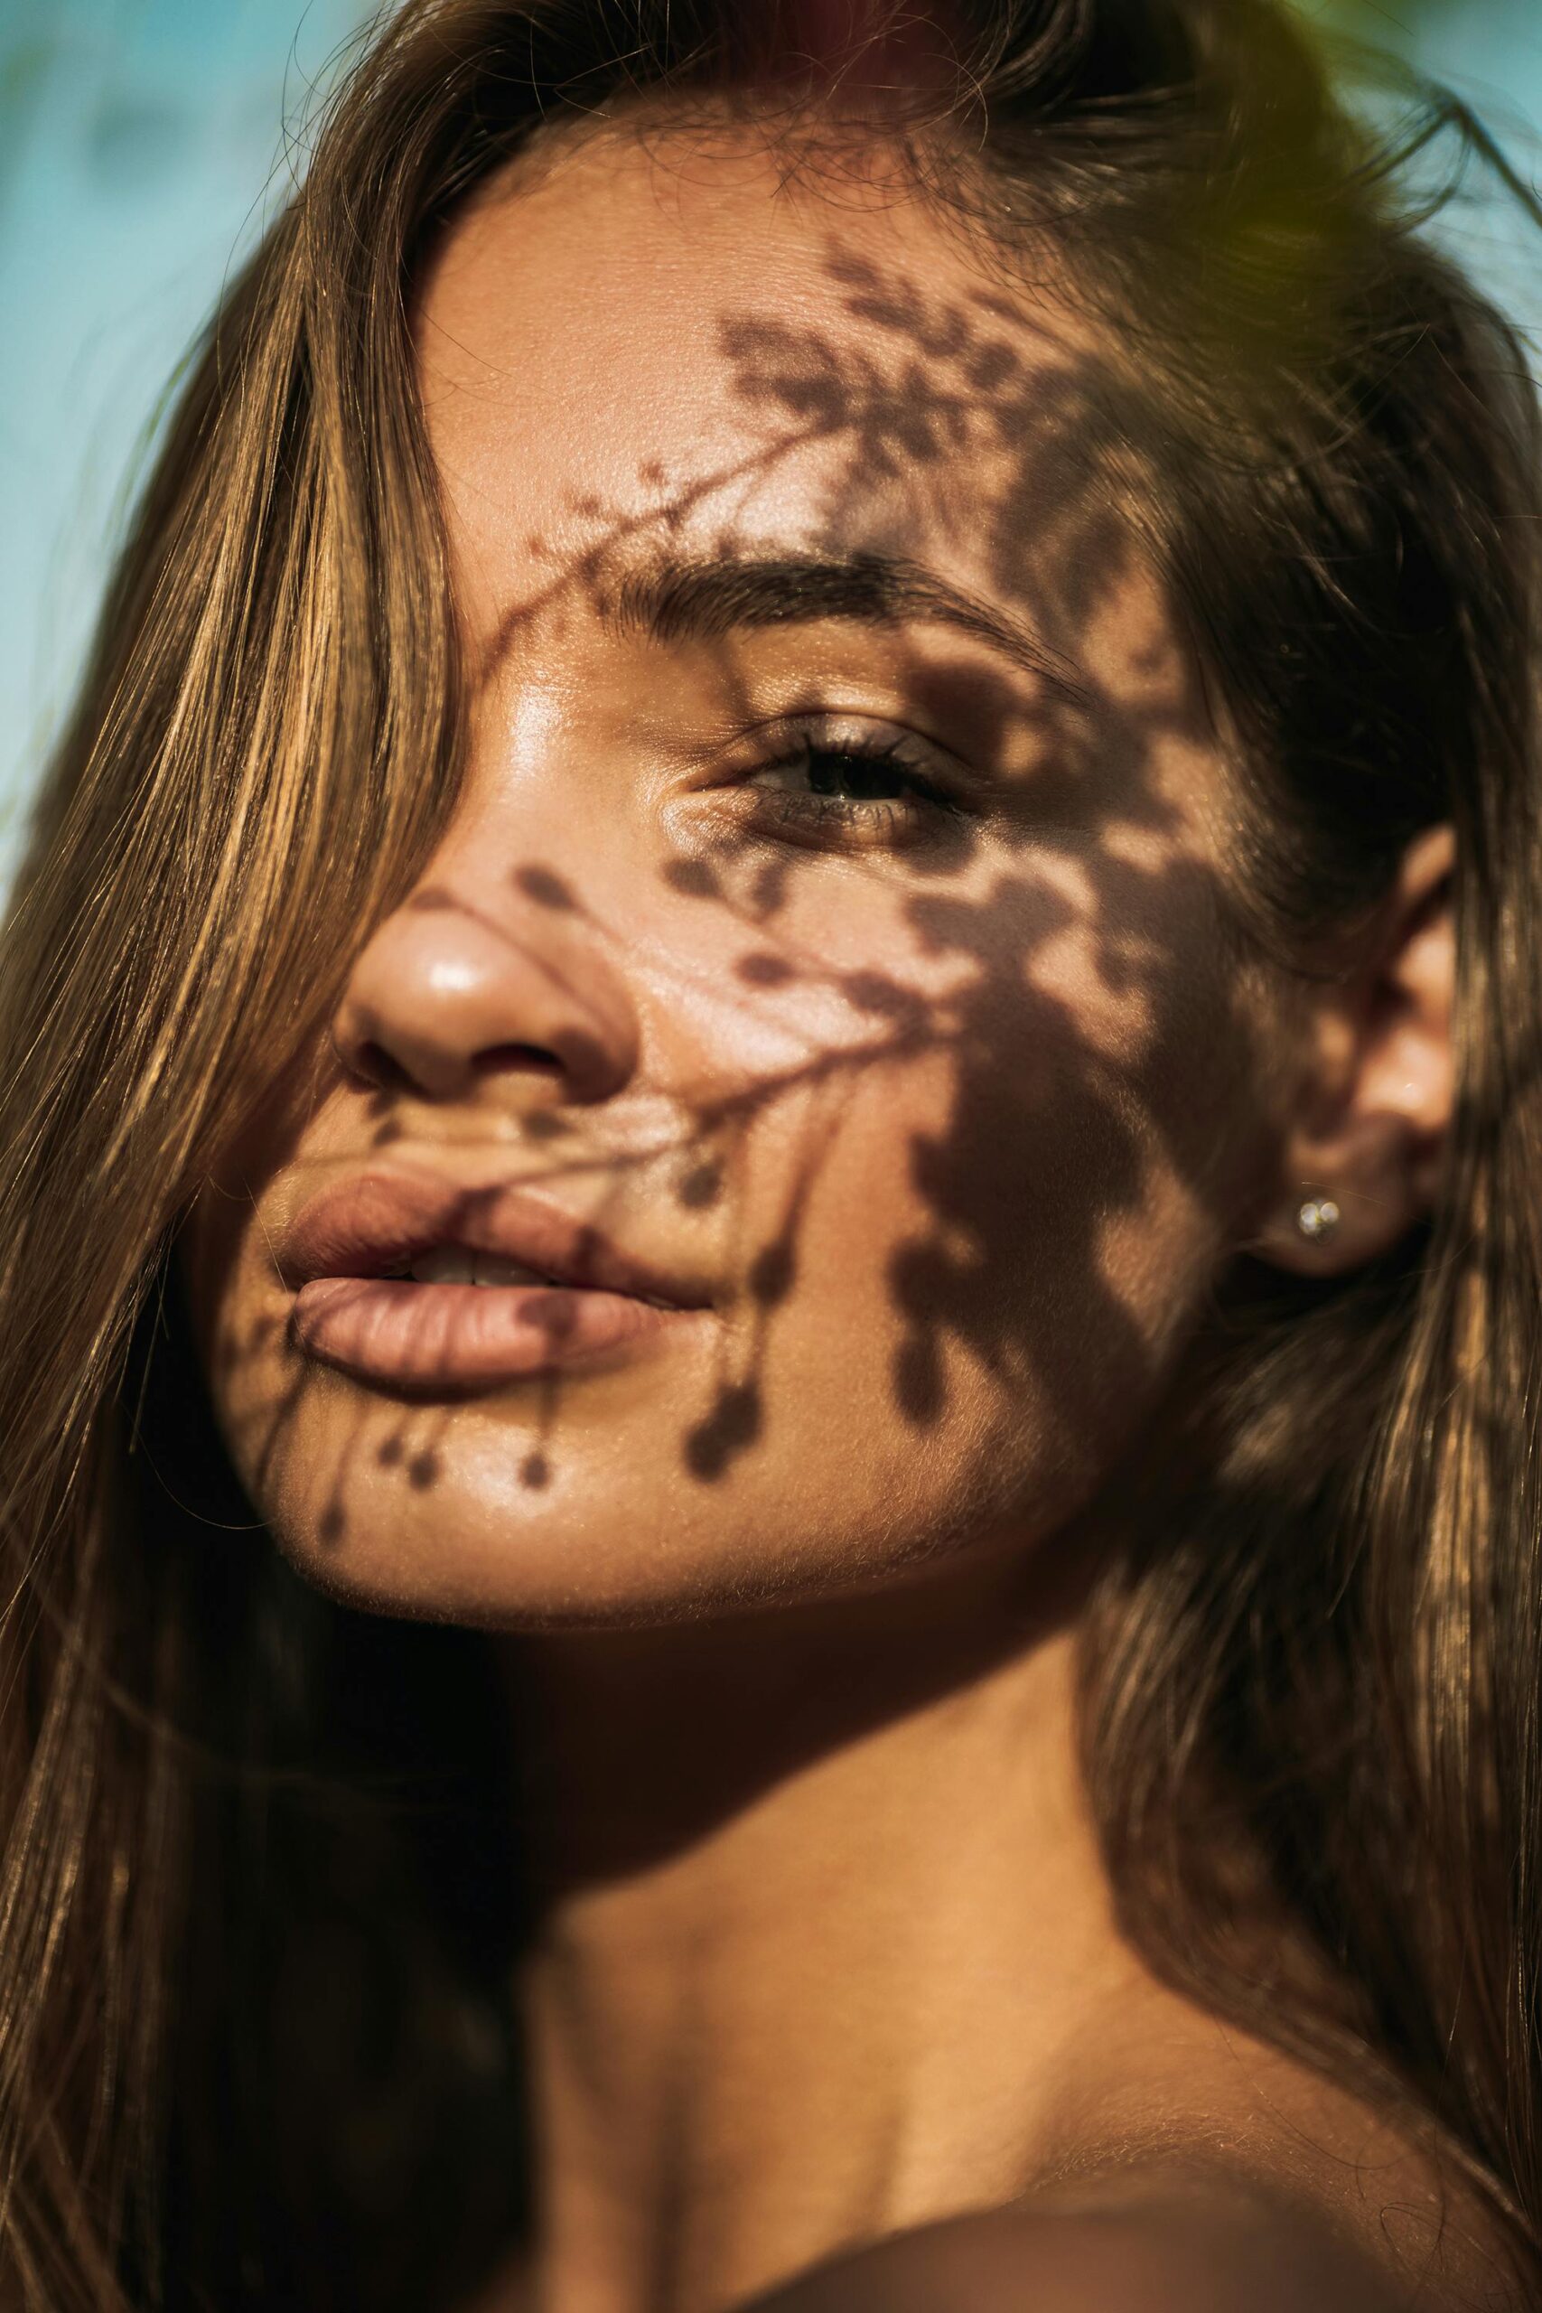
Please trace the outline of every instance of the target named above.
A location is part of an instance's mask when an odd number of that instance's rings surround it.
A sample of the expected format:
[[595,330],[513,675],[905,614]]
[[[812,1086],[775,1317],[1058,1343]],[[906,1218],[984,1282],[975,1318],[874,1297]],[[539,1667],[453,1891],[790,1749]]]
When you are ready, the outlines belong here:
[[[1542,0],[1297,5],[1447,81],[1542,180]],[[0,893],[169,379],[372,16],[375,0],[0,0]],[[1542,370],[1542,234],[1477,178],[1443,231],[1535,333]]]

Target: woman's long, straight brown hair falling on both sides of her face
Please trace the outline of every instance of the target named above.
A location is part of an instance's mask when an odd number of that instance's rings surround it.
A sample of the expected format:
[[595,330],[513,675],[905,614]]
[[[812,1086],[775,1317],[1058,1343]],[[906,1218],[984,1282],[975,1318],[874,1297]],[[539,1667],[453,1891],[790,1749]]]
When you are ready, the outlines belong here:
[[[848,14],[881,39],[915,12]],[[918,176],[1008,257],[1063,252],[1137,347],[1144,520],[1244,766],[1248,937],[1318,953],[1456,830],[1438,1210],[1345,1281],[1239,1263],[1181,1515],[1089,1633],[1114,1887],[1165,1978],[1433,2130],[1535,2274],[1537,414],[1419,231],[1429,176],[1399,190],[1438,134],[1503,162],[1413,86],[1369,127],[1272,0],[932,14],[892,125]],[[818,111],[821,16],[407,0],[143,493],[0,948],[0,2271],[28,2306],[388,2313],[522,2220],[479,1640],[289,1573],[171,1244],[453,800],[430,234],[541,123]],[[1278,1917],[1309,1968],[1260,1957]]]

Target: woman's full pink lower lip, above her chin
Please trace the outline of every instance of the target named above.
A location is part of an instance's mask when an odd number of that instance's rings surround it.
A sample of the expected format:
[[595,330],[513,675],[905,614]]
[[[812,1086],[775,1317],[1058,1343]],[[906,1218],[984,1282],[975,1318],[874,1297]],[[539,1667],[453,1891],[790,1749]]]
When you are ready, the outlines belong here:
[[391,1388],[495,1388],[657,1346],[700,1309],[654,1309],[587,1286],[423,1286],[314,1277],[294,1300],[296,1344]]

